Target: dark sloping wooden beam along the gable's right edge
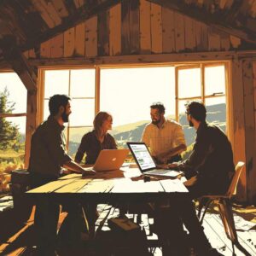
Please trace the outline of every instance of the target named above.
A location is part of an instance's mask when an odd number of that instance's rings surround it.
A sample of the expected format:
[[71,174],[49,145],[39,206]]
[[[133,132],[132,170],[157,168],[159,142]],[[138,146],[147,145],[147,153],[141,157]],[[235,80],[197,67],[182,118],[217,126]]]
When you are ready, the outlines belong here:
[[[230,33],[249,43],[256,44],[256,19],[248,15],[239,13],[239,6],[232,5],[229,10],[221,10],[211,12],[197,3],[187,3],[186,0],[147,0],[151,3],[160,4],[164,8],[173,9],[183,15],[187,15],[192,19],[206,23],[207,26],[218,29],[223,32]],[[241,1],[235,1],[241,2]],[[233,10],[232,14],[227,14]]]

